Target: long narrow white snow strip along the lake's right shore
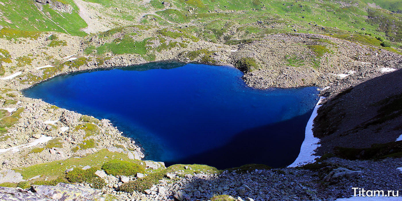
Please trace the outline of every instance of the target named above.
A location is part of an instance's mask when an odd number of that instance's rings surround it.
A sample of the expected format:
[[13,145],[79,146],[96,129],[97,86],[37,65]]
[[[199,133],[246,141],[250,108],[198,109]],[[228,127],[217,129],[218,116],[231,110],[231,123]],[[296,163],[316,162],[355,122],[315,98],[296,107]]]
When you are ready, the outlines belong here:
[[314,156],[313,154],[315,153],[314,150],[316,150],[319,146],[318,142],[320,142],[320,139],[314,137],[313,135],[313,123],[314,119],[317,117],[317,110],[318,108],[321,107],[320,103],[324,98],[325,97],[320,97],[320,99],[316,104],[316,107],[314,107],[314,111],[311,114],[311,117],[308,120],[306,126],[306,134],[304,137],[303,144],[301,144],[300,147],[299,156],[297,156],[295,162],[287,166],[288,168],[294,168],[305,164],[314,163],[316,161],[317,156]]

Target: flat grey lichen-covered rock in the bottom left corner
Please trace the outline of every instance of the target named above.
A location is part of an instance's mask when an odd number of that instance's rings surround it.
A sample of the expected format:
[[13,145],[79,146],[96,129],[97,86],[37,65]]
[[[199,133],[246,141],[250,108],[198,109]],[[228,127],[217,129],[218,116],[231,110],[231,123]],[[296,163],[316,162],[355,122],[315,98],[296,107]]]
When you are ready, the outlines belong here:
[[8,187],[0,187],[0,200],[7,201],[54,201],[51,198],[25,191],[23,189],[15,189]]

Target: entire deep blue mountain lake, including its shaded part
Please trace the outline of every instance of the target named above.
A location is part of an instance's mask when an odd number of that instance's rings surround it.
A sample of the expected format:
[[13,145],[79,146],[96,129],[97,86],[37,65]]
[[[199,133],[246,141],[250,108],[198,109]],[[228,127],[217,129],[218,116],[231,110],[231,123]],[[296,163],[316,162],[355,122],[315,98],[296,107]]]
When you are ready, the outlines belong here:
[[110,119],[148,160],[279,167],[299,154],[316,87],[258,90],[230,66],[154,62],[58,76],[25,90],[58,107]]

